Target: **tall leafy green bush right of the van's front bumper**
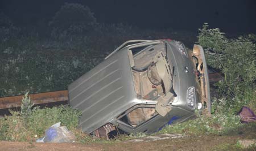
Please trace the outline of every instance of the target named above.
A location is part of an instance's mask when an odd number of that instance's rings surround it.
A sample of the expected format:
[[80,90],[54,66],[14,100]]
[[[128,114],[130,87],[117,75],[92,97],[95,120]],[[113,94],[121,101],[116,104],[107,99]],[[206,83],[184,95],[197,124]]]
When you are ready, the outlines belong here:
[[[256,45],[254,34],[236,39],[225,37],[220,29],[199,29],[199,44],[205,49],[208,65],[224,74],[216,85],[223,110],[237,113],[242,106],[255,102]],[[223,98],[223,99],[222,99]],[[255,106],[253,106],[255,109]]]

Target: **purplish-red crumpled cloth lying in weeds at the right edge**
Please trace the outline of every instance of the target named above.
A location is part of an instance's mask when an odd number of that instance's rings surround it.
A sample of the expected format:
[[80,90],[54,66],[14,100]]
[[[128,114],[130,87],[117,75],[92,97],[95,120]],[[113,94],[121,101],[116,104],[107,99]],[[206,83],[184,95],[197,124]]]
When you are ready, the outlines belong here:
[[249,107],[243,106],[238,115],[240,115],[242,123],[256,122],[256,115]]

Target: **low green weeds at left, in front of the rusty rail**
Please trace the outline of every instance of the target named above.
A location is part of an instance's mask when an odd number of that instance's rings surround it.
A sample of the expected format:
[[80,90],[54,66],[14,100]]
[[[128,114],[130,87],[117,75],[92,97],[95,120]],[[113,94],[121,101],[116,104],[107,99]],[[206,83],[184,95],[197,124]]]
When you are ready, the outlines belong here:
[[[27,93],[23,100],[23,102],[30,102]],[[62,105],[44,109],[39,109],[39,107],[31,109],[31,107],[31,104],[23,105],[22,112],[10,111],[11,116],[0,118],[0,140],[35,140],[42,137],[47,128],[57,122],[61,122],[61,125],[76,132],[81,111]]]

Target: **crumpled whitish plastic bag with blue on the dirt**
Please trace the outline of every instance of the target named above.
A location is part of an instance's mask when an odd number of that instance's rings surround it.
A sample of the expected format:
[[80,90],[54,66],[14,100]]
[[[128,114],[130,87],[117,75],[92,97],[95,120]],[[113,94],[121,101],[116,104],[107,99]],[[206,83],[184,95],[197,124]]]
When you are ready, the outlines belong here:
[[60,126],[60,122],[53,124],[46,130],[45,136],[36,140],[37,143],[73,143],[76,136],[68,131],[66,126]]

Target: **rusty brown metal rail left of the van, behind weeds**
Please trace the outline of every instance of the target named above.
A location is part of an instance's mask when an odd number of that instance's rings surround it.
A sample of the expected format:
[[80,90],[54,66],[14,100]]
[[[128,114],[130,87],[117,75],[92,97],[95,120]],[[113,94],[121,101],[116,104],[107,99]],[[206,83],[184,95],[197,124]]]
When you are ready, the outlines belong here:
[[[35,105],[54,102],[68,102],[68,90],[28,94],[28,96]],[[22,97],[23,95],[0,98],[0,109],[20,107]]]

